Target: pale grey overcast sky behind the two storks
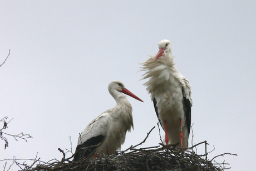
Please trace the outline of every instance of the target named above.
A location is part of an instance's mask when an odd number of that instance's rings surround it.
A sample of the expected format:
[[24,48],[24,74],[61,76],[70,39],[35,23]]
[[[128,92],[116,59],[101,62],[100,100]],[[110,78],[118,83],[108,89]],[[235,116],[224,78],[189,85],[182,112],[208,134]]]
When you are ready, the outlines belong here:
[[[238,154],[216,159],[232,170],[254,170],[255,11],[255,1],[0,1],[0,63],[11,49],[0,67],[0,117],[14,118],[4,132],[33,137],[8,137],[7,149],[0,140],[0,160],[37,152],[61,160],[68,136],[74,151],[78,133],[115,106],[114,79],[144,100],[127,97],[134,130],[122,150],[140,143],[158,120],[139,63],[169,39],[192,87],[193,143],[207,140],[209,158]],[[159,142],[156,128],[141,147]]]

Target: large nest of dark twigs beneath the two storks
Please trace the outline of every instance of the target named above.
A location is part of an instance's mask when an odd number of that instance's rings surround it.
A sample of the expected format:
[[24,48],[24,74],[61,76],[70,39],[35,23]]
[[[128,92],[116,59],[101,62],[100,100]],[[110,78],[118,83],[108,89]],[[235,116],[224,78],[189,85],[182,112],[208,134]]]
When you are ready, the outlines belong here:
[[[154,127],[155,128],[155,127]],[[152,129],[154,129],[152,128]],[[152,131],[150,130],[150,132]],[[159,146],[136,148],[144,143],[149,136],[147,133],[146,138],[135,146],[131,145],[124,151],[116,152],[116,154],[105,155],[97,153],[96,158],[88,157],[81,159],[77,162],[72,162],[73,155],[70,158],[66,158],[66,153],[60,148],[60,152],[63,154],[61,161],[57,159],[50,160],[49,162],[41,162],[39,159],[31,165],[17,163],[22,170],[190,170],[190,171],[203,171],[203,170],[225,170],[228,163],[216,163],[215,158],[223,155],[237,155],[231,153],[223,153],[217,155],[213,159],[208,159],[206,152],[206,141],[193,145],[190,148],[178,148],[179,143],[163,145],[159,143]],[[196,154],[193,150],[200,144],[205,144],[205,154]],[[35,166],[35,163],[39,164]],[[52,162],[52,163],[50,163]],[[33,168],[34,167],[34,168]]]

